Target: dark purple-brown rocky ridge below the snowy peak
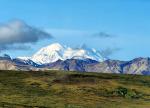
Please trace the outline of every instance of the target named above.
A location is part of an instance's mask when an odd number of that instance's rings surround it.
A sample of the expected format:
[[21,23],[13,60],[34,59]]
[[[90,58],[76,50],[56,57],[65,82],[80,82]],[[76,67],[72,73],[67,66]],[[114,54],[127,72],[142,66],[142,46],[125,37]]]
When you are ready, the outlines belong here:
[[92,59],[58,60],[48,64],[36,64],[32,60],[12,59],[9,55],[0,57],[1,70],[65,70],[79,72],[119,73],[150,75],[150,58],[135,58],[130,61]]

